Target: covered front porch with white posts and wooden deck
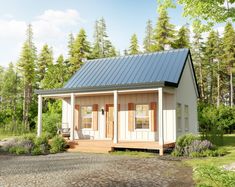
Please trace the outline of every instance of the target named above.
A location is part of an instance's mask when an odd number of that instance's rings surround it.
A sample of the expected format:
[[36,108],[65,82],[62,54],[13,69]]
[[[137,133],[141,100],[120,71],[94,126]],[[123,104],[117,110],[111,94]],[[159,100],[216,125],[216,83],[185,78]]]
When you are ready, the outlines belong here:
[[[125,94],[156,94],[157,103],[157,130],[154,133],[153,141],[124,141],[120,134],[120,123],[119,108],[121,97]],[[68,126],[70,130],[70,145],[74,147],[73,150],[84,150],[86,152],[97,152],[98,150],[107,150],[104,152],[112,151],[115,148],[129,148],[129,149],[151,149],[159,150],[160,155],[163,155],[165,148],[172,146],[174,141],[169,141],[164,138],[166,137],[168,129],[164,128],[164,94],[170,94],[172,101],[175,101],[174,89],[171,88],[154,88],[154,89],[135,89],[135,90],[113,90],[113,91],[102,91],[102,92],[73,92],[71,93],[51,93],[51,94],[39,94],[38,95],[38,129],[37,135],[40,136],[42,133],[42,100],[43,98],[54,98],[54,99],[67,99],[69,100],[69,114]],[[77,139],[76,133],[76,102],[79,102],[83,97],[96,97],[96,96],[111,96],[113,106],[113,136],[105,139]],[[173,102],[174,103],[174,102]],[[98,110],[98,109],[97,109]],[[174,116],[172,116],[174,118]],[[100,130],[100,129],[99,129]],[[174,129],[173,129],[174,130]],[[172,131],[172,129],[171,129]],[[105,132],[107,134],[107,132]],[[172,137],[175,140],[175,137]],[[70,149],[71,150],[71,149]],[[95,151],[97,150],[97,151]],[[102,152],[102,151],[101,151]]]

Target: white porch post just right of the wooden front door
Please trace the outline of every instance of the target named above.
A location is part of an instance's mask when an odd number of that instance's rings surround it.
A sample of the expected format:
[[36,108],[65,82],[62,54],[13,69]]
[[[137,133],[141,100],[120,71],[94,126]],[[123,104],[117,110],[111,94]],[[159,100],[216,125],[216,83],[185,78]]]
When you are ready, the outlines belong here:
[[118,143],[118,92],[113,92],[113,104],[114,104],[114,136],[113,143]]

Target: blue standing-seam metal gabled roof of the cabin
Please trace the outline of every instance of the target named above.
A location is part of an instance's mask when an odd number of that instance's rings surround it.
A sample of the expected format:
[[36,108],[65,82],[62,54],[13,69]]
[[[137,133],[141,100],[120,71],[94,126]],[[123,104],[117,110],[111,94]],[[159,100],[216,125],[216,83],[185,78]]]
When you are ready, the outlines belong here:
[[[89,60],[63,88],[54,90],[54,93],[178,87],[188,56],[189,49],[176,49]],[[47,93],[46,90],[36,92]]]

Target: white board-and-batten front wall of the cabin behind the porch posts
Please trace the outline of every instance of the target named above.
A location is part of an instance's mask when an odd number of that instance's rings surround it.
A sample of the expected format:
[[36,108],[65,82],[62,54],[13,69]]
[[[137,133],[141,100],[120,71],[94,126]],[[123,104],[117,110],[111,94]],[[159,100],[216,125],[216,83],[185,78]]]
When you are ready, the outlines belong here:
[[[69,123],[70,116],[70,99],[63,100],[63,127]],[[120,104],[120,126],[119,126],[119,140],[129,141],[156,141],[158,139],[158,132],[152,132],[151,129],[128,131],[128,103],[134,104],[150,104],[157,102],[157,93],[138,93],[138,94],[119,94],[118,104]],[[101,109],[105,110],[106,104],[113,104],[113,95],[103,96],[86,96],[77,97],[76,104],[79,106],[98,104],[98,131],[93,129],[81,129],[75,132],[75,139],[89,138],[89,139],[106,139],[106,116],[102,115]],[[75,119],[76,121],[76,119]],[[151,120],[149,119],[149,126],[151,128]]]

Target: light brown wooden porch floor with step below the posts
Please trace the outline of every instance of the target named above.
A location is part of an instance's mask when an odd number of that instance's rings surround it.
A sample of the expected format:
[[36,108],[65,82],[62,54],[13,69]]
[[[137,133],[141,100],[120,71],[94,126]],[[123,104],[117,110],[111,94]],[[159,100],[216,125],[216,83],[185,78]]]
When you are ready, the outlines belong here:
[[[114,144],[112,140],[68,140],[68,144],[70,146],[69,152],[108,153],[115,148],[161,150],[158,142],[147,141],[119,141],[117,144]],[[174,142],[164,143],[164,149],[174,146]]]

